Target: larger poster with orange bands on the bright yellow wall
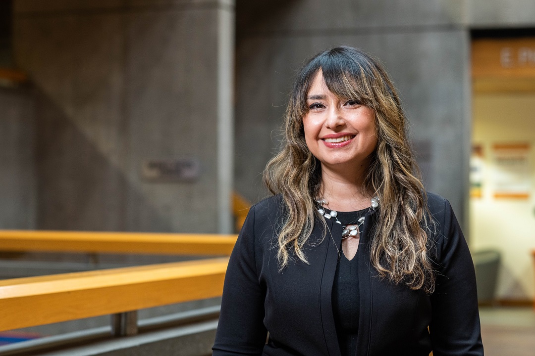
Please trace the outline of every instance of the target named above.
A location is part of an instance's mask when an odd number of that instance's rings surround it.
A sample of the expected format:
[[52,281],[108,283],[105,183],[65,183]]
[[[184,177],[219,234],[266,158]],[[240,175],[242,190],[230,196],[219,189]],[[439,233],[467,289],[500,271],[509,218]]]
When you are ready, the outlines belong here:
[[531,176],[530,145],[493,145],[493,196],[495,199],[529,199]]

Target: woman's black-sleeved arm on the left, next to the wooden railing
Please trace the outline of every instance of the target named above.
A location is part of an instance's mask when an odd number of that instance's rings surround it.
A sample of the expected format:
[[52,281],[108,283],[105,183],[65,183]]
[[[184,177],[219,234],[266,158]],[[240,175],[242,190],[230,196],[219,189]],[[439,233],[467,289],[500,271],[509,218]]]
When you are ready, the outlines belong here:
[[265,289],[258,279],[255,254],[255,207],[249,210],[228,262],[213,356],[261,355]]

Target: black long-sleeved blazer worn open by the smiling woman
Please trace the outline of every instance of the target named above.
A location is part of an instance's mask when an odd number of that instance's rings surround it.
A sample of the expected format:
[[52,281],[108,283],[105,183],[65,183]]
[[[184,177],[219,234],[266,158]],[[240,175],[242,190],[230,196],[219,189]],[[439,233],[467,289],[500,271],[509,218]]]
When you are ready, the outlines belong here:
[[[378,214],[366,214],[357,250],[358,356],[428,356],[431,350],[434,356],[483,355],[467,243],[447,200],[429,194],[428,205],[438,223],[429,239],[437,275],[432,295],[378,278],[369,248]],[[322,239],[323,224],[316,221],[305,246],[309,264],[294,259],[279,271],[277,228],[283,215],[280,196],[249,211],[228,264],[215,356],[340,356],[331,294],[342,226],[327,220]]]

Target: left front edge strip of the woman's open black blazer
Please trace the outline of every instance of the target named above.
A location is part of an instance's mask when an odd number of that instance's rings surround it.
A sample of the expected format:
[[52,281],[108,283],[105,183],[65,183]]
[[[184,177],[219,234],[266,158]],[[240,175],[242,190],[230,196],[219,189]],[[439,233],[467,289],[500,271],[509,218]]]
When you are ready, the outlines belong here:
[[[334,274],[340,256],[340,243],[342,236],[342,225],[328,219],[327,233],[325,235],[325,243],[327,243],[327,251],[325,254],[325,262],[323,267],[322,281],[319,291],[319,307],[322,316],[323,335],[325,337],[325,344],[330,356],[341,356],[340,346],[338,345],[338,336],[336,327],[334,325],[334,315],[332,310],[332,289],[334,282]],[[337,238],[337,236],[339,236]]]

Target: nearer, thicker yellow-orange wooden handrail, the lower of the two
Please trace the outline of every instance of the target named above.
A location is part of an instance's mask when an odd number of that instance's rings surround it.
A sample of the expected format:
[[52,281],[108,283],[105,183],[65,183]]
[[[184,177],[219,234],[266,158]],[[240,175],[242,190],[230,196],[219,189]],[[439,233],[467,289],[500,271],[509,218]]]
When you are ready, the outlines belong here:
[[228,258],[0,281],[0,331],[221,296]]

